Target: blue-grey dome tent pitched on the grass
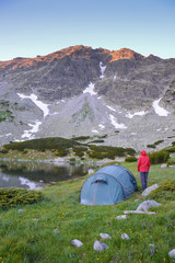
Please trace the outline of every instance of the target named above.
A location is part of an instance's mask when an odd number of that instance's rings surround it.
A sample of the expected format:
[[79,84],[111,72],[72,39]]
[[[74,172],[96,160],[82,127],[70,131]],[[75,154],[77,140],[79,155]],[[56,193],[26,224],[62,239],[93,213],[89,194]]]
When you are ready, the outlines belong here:
[[83,205],[115,205],[138,190],[133,174],[118,164],[106,165],[90,176],[81,188]]

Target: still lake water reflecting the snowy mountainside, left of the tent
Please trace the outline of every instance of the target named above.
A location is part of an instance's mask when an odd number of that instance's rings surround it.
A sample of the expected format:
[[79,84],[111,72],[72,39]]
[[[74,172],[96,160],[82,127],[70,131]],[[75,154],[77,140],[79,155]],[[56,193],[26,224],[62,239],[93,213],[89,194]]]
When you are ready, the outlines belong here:
[[39,190],[46,184],[84,176],[95,165],[0,161],[0,187]]

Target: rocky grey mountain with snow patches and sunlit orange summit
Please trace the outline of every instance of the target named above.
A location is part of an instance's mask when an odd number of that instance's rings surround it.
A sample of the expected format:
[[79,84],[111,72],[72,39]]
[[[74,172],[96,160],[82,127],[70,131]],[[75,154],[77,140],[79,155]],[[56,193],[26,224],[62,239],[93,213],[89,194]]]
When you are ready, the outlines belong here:
[[0,144],[105,135],[137,150],[175,138],[175,59],[72,46],[0,61]]

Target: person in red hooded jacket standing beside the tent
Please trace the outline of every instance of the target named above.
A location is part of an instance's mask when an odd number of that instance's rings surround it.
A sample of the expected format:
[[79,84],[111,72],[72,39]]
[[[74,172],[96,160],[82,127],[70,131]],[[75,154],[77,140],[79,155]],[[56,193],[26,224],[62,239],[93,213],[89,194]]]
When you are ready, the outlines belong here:
[[147,152],[143,150],[141,151],[141,156],[139,157],[139,160],[138,160],[138,172],[140,172],[140,179],[141,179],[143,191],[147,188],[150,167],[151,167],[150,158],[147,156]]

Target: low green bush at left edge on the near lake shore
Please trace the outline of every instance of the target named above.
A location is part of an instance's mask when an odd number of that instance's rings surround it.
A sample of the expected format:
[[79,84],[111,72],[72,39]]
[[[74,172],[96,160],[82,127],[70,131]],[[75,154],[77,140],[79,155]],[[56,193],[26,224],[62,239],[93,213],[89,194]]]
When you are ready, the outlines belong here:
[[43,199],[39,191],[27,191],[25,188],[0,188],[0,208],[5,209],[16,205],[34,204]]

